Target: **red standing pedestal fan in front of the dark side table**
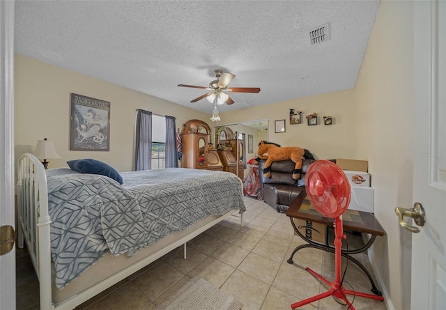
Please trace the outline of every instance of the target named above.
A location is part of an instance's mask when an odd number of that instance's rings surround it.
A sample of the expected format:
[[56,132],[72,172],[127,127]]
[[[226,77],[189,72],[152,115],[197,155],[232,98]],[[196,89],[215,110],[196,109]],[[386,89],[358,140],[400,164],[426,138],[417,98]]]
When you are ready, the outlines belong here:
[[309,297],[306,300],[295,302],[291,304],[291,308],[295,309],[310,302],[316,302],[328,296],[334,296],[338,299],[344,300],[349,309],[355,310],[351,302],[347,299],[347,295],[355,295],[360,297],[367,297],[374,300],[383,301],[381,296],[358,293],[353,290],[346,290],[341,281],[341,239],[346,239],[342,228],[341,216],[348,208],[351,197],[351,186],[342,169],[334,162],[329,160],[316,160],[307,170],[305,176],[305,187],[307,188],[307,195],[312,201],[314,208],[325,217],[334,218],[334,255],[335,255],[335,273],[336,279],[331,283],[317,274],[310,268],[307,271],[315,277],[330,286],[330,290],[319,295]]

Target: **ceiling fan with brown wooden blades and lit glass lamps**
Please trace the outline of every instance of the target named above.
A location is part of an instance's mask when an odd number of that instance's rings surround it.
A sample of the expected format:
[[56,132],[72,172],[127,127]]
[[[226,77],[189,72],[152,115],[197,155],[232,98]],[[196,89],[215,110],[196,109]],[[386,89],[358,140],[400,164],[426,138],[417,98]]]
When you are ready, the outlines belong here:
[[190,102],[197,102],[203,98],[207,98],[209,102],[213,103],[215,98],[217,98],[217,104],[233,104],[234,101],[224,93],[224,91],[229,91],[232,93],[259,93],[260,88],[259,87],[231,87],[227,88],[228,84],[232,81],[235,75],[229,72],[223,72],[220,69],[214,70],[215,77],[217,79],[211,81],[209,83],[209,86],[195,86],[195,85],[185,85],[185,84],[178,84],[180,87],[191,87],[191,88],[201,88],[206,89],[208,91],[211,91],[210,93],[205,93],[204,95],[201,95],[198,98],[195,98],[194,100],[191,100]]

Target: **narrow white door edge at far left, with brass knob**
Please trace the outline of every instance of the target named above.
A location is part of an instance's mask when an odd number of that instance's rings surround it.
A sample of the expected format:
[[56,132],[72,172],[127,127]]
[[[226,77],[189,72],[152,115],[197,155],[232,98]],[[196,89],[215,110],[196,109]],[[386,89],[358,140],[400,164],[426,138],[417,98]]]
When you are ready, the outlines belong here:
[[[0,1],[0,226],[14,226],[14,1]],[[1,238],[6,233],[1,231]],[[15,309],[15,250],[0,256],[0,309]]]

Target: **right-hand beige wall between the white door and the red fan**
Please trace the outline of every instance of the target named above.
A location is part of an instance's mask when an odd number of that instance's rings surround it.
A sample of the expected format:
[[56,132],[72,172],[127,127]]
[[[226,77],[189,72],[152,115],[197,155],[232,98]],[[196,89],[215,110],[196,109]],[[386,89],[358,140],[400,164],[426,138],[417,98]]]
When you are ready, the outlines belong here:
[[375,215],[385,230],[369,251],[387,309],[410,309],[411,235],[394,208],[412,206],[413,3],[382,1],[355,91],[355,157],[368,157]]

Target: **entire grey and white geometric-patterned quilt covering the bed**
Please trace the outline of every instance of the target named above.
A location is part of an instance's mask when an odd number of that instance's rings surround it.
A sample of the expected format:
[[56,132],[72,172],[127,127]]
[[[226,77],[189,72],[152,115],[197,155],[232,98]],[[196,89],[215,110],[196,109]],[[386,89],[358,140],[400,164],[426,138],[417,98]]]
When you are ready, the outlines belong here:
[[47,171],[56,287],[74,281],[109,251],[133,256],[210,215],[245,211],[243,184],[232,173],[169,168],[106,176]]

